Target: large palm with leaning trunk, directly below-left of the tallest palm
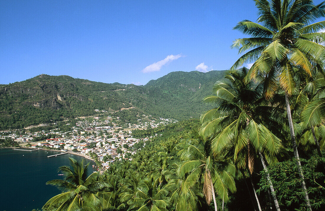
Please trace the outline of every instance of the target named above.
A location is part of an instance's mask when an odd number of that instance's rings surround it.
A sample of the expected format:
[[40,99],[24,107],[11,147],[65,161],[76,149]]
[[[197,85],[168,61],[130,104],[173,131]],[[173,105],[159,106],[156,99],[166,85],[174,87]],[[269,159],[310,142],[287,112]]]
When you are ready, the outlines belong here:
[[[266,160],[268,163],[276,161],[274,155],[281,143],[279,138],[267,129],[272,128],[275,132],[279,132],[276,131],[278,112],[275,112],[273,107],[263,104],[261,99],[263,83],[248,81],[247,74],[247,68],[229,71],[225,79],[215,83],[215,95],[204,99],[205,102],[215,104],[215,108],[201,115],[201,134],[213,138],[212,146],[215,154],[222,154],[226,150],[232,153],[234,162],[242,158],[247,160],[242,166],[247,165],[251,173],[254,157],[256,154],[259,155],[267,172]],[[266,175],[274,203],[279,210],[273,184],[269,175]]]

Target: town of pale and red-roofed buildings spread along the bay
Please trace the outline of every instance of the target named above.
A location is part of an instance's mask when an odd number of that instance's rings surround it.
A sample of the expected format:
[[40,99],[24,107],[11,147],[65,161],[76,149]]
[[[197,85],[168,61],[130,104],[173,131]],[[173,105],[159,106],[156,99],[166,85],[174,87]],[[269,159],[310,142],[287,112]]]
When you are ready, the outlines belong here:
[[106,169],[116,160],[132,160],[131,156],[153,137],[134,138],[132,130],[145,130],[177,122],[170,118],[152,118],[150,121],[143,118],[138,119],[135,124],[127,123],[121,127],[118,125],[119,121],[118,116],[77,118],[73,123],[66,123],[65,127],[54,127],[50,130],[3,131],[0,132],[0,139],[12,139],[19,143],[20,147],[84,156],[94,160],[99,169]]

